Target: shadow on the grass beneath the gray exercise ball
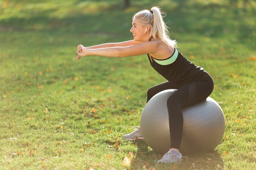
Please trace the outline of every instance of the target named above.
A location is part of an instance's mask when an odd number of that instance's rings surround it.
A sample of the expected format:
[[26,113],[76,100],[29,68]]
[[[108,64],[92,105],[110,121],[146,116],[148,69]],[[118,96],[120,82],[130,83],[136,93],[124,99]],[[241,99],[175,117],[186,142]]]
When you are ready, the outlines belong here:
[[162,158],[163,154],[153,151],[149,148],[145,141],[135,141],[134,144],[138,150],[136,158],[132,160],[130,169],[146,169],[152,170],[222,170],[224,162],[221,156],[216,151],[212,152],[196,152],[184,154],[182,163],[175,164],[157,164],[157,161]]

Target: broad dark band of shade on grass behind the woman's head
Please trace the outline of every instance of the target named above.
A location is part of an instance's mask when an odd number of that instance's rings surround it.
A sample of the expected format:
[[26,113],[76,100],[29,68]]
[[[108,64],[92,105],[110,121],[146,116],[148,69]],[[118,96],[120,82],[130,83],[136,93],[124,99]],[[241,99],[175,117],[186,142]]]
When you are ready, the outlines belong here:
[[[192,5],[186,7],[164,7],[167,13],[164,21],[172,29],[172,33],[195,33],[209,37],[223,37],[227,34],[236,35],[241,42],[255,37],[253,13],[242,9],[229,9],[225,5]],[[131,8],[124,12],[122,4],[110,6],[100,13],[76,13],[65,18],[52,17],[53,9],[44,11],[43,15],[31,18],[9,18],[0,21],[0,30],[9,31],[49,31],[58,34],[103,33],[108,35],[130,35],[132,16],[140,8]],[[114,12],[113,12],[114,11]],[[240,22],[240,20],[247,22]],[[234,29],[236,28],[236,29]],[[238,31],[239,30],[239,31]],[[242,30],[242,31],[241,31]],[[174,37],[175,38],[175,37]]]

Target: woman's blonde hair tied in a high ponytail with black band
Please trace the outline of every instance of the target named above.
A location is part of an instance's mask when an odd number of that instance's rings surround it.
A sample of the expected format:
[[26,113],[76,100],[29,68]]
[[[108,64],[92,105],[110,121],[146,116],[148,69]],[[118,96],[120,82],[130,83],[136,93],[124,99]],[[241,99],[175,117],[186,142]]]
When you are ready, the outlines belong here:
[[169,37],[168,26],[166,26],[163,20],[165,16],[166,13],[160,11],[159,7],[152,7],[150,11],[142,10],[137,12],[133,18],[136,18],[144,26],[150,26],[150,38],[161,39],[167,45],[177,46],[176,40],[171,40]]

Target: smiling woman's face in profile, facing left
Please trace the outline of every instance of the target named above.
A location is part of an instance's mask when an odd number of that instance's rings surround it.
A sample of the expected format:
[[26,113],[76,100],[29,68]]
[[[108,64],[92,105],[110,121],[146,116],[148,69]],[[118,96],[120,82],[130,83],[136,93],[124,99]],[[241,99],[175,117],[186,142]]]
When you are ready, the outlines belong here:
[[[146,31],[146,26],[139,23],[136,20],[136,18],[133,18],[132,28],[130,29],[130,32],[133,35],[133,40],[140,41],[140,42],[146,41],[148,38],[147,38],[147,33],[145,33],[145,31]],[[148,32],[148,30],[146,32]]]

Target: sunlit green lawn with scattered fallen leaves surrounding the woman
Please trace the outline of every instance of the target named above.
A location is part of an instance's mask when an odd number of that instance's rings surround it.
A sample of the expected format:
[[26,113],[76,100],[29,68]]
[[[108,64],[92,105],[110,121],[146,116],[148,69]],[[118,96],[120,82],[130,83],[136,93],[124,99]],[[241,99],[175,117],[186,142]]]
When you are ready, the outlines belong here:
[[[122,5],[0,2],[0,169],[254,170],[255,2]],[[157,166],[162,154],[122,139],[138,126],[147,89],[165,81],[146,55],[75,60],[78,44],[130,40],[134,12],[153,5],[167,13],[180,51],[212,75],[226,120],[215,150],[179,165]]]

